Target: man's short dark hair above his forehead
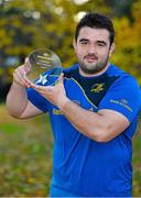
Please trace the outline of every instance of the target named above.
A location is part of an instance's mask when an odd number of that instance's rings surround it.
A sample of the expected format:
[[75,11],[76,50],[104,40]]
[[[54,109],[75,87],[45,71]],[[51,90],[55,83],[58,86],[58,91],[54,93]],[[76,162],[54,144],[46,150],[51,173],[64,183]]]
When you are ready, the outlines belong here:
[[84,26],[89,26],[94,29],[106,29],[110,34],[110,37],[109,37],[110,45],[113,43],[115,28],[109,16],[100,14],[100,13],[93,13],[93,12],[86,13],[76,26],[75,41],[77,41],[79,31]]

